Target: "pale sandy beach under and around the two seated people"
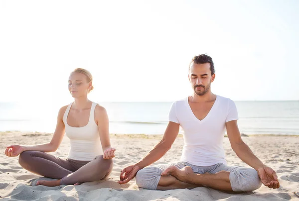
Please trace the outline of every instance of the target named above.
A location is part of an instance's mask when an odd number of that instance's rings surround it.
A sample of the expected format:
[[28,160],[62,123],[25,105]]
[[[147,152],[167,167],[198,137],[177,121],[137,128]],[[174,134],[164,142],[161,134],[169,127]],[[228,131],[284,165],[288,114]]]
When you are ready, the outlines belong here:
[[[52,133],[1,132],[0,133],[0,199],[3,201],[281,201],[299,200],[299,136],[252,135],[243,137],[252,151],[278,173],[280,189],[262,186],[254,192],[241,194],[225,193],[206,187],[192,190],[153,191],[137,187],[135,180],[120,185],[120,171],[139,161],[160,139],[161,135],[114,135],[112,146],[116,148],[113,172],[108,181],[87,182],[79,186],[35,186],[44,179],[32,174],[18,164],[18,157],[7,157],[8,145],[31,145],[49,142]],[[247,166],[232,151],[227,137],[224,149],[228,165]],[[172,148],[155,164],[178,161],[183,147],[179,135]],[[66,157],[69,140],[64,137],[55,154]],[[50,180],[50,179],[49,179]],[[296,195],[297,194],[297,195]]]

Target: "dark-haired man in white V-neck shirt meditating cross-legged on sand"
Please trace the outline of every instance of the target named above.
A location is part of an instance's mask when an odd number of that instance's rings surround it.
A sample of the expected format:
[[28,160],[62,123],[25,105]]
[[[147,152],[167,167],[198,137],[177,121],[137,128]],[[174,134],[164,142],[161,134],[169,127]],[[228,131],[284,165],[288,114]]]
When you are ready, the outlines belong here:
[[[264,165],[242,141],[235,103],[211,92],[214,80],[212,58],[204,54],[195,56],[189,65],[193,95],[172,104],[163,138],[141,161],[121,171],[120,184],[136,176],[136,184],[145,189],[207,186],[223,191],[243,192],[256,190],[262,183],[269,188],[279,188],[276,172]],[[145,168],[171,148],[179,126],[184,130],[180,162]],[[226,165],[222,146],[225,128],[232,149],[252,168]]]

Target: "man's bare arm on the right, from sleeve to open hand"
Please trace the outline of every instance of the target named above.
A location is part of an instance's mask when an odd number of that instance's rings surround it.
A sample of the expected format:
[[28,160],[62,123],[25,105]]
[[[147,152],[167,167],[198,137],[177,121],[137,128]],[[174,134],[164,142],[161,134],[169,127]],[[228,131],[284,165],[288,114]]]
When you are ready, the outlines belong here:
[[237,120],[228,121],[226,123],[226,130],[231,147],[237,156],[258,172],[259,177],[265,186],[273,189],[279,188],[280,184],[276,172],[258,159],[242,140]]

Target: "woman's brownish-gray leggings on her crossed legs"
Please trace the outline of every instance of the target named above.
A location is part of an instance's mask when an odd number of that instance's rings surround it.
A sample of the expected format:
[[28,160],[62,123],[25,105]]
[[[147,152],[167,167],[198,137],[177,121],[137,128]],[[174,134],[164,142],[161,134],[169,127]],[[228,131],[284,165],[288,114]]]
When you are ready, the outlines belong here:
[[105,180],[109,177],[113,160],[97,156],[92,161],[59,158],[40,151],[24,151],[19,164],[26,170],[53,179],[61,179],[60,185]]

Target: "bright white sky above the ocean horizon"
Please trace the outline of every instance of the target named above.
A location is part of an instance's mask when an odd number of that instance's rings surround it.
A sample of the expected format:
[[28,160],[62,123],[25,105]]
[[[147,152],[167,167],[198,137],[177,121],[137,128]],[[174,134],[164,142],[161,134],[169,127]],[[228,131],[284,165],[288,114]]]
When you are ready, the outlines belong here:
[[69,73],[92,101],[175,101],[194,55],[215,63],[215,94],[299,100],[298,0],[1,0],[0,101],[68,104]]

